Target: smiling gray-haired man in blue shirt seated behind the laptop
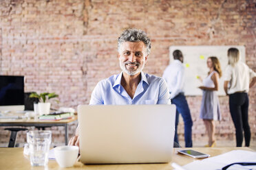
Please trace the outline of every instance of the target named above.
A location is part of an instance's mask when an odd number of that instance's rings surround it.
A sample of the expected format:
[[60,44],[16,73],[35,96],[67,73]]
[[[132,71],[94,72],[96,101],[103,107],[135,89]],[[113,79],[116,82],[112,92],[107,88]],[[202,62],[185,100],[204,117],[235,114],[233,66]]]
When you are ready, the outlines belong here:
[[[167,83],[143,73],[151,40],[139,29],[126,29],[118,38],[118,60],[122,72],[98,82],[90,105],[171,104]],[[78,133],[69,145],[79,145]]]

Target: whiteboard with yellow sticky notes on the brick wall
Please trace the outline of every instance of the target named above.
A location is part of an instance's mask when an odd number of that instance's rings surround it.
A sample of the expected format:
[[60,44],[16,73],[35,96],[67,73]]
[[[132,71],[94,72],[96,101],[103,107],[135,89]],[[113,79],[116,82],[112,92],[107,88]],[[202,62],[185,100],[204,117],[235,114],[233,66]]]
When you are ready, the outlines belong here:
[[[185,66],[185,95],[202,95],[202,90],[198,86],[202,86],[202,82],[198,76],[204,79],[207,77],[209,68],[207,67],[206,60],[210,56],[215,56],[220,60],[222,68],[222,76],[228,65],[227,52],[231,47],[239,50],[242,62],[245,62],[246,49],[244,46],[225,45],[225,46],[171,46],[169,47],[170,63],[173,61],[173,51],[179,49],[182,51]],[[217,95],[226,95],[224,92],[224,81],[220,78],[219,90]]]

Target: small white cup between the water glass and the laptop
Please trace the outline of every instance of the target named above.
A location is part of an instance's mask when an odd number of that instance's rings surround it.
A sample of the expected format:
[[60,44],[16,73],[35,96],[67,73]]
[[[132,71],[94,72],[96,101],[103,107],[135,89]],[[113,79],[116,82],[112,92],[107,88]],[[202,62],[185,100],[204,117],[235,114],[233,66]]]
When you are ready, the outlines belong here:
[[54,148],[54,155],[60,167],[72,167],[76,162],[79,148],[76,146],[61,146]]

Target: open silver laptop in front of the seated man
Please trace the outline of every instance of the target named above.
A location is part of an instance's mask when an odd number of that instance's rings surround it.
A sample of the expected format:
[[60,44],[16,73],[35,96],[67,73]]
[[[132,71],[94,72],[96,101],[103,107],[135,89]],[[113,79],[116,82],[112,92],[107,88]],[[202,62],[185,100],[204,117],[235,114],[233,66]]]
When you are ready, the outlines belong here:
[[170,162],[175,105],[78,106],[81,162]]

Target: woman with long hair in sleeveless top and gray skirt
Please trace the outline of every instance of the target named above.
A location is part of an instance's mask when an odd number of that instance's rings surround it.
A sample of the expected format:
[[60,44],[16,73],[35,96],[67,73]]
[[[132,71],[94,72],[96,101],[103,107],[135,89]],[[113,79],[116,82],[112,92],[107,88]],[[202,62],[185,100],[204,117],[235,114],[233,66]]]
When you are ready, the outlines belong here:
[[220,69],[220,62],[216,57],[209,57],[207,59],[207,66],[210,69],[208,76],[203,80],[203,86],[199,87],[203,90],[200,118],[204,121],[209,137],[208,145],[205,145],[205,147],[214,147],[216,145],[214,121],[220,121],[221,119],[217,90],[219,89],[219,79],[222,76],[222,70]]

